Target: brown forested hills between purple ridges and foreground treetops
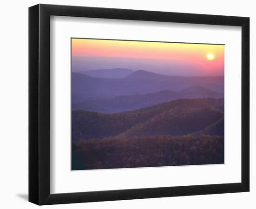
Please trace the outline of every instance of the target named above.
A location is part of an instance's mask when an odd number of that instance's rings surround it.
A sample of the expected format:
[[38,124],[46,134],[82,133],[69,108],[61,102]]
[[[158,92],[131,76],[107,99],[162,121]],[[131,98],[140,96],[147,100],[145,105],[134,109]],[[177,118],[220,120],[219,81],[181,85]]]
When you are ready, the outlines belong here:
[[201,98],[178,99],[114,114],[72,111],[72,140],[189,133],[222,135],[224,114],[216,108],[221,105],[222,99]]

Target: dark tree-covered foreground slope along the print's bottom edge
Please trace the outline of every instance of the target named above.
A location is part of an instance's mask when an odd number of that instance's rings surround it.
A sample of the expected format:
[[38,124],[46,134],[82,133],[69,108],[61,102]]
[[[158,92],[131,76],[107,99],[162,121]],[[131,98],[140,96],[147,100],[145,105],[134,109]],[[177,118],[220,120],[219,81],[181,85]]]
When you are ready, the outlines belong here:
[[224,163],[224,137],[108,137],[72,144],[72,170]]

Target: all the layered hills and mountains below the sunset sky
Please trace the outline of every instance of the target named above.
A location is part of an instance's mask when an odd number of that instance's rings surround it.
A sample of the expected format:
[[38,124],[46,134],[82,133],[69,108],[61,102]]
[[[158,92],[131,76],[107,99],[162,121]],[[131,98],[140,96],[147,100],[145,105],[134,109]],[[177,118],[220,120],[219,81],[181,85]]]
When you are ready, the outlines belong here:
[[72,170],[224,163],[223,85],[128,69],[72,73]]

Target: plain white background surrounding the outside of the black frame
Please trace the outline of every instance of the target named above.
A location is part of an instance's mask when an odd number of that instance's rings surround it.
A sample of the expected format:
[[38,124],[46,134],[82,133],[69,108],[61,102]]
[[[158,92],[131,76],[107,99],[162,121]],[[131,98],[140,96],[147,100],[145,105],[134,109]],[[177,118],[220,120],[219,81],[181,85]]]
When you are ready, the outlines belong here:
[[[28,194],[28,7],[38,3],[88,7],[115,7],[183,13],[250,17],[251,68],[251,191],[248,193],[169,197],[128,201],[93,202],[45,206],[44,208],[256,208],[256,149],[253,130],[256,105],[253,79],[256,65],[256,13],[253,0],[26,0],[2,1],[0,7],[0,207],[35,208]],[[254,118],[253,118],[254,117]],[[234,130],[236,131],[236,130]],[[232,148],[231,148],[232,149]],[[254,164],[254,165],[253,165]],[[188,174],[189,175],[189,174]]]

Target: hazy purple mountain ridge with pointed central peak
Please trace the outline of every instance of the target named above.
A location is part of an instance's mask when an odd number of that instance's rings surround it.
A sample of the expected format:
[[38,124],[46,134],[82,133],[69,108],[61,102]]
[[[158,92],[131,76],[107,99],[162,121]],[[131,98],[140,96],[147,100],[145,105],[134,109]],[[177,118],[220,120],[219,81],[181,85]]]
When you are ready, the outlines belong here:
[[[99,70],[99,72],[101,71]],[[190,94],[186,88],[192,86],[194,89],[189,89]],[[184,90],[187,91],[186,97],[191,98],[194,97],[193,92],[196,88],[198,91],[205,91],[203,88],[212,91],[211,93],[216,96],[211,97],[217,97],[217,95],[223,97],[224,77],[166,76],[153,72],[136,71],[124,78],[96,78],[81,73],[72,73],[72,102],[74,103],[91,98],[149,94],[163,90]],[[208,96],[208,93],[205,96]],[[185,95],[185,92],[183,94]]]

